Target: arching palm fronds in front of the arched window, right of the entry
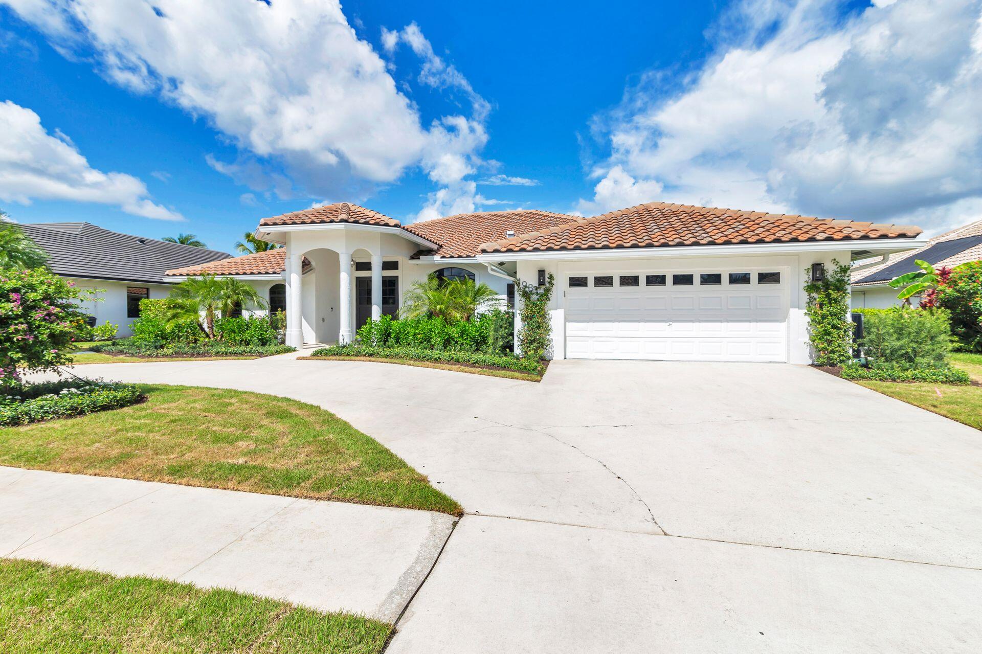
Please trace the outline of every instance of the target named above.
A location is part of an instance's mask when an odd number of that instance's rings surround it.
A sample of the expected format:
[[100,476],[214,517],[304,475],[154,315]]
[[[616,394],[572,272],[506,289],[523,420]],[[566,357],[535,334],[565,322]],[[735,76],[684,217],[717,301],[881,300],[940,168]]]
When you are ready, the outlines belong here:
[[501,303],[501,297],[487,284],[475,284],[470,279],[441,280],[430,275],[425,281],[409,287],[403,296],[400,316],[469,321],[475,314],[489,311]]

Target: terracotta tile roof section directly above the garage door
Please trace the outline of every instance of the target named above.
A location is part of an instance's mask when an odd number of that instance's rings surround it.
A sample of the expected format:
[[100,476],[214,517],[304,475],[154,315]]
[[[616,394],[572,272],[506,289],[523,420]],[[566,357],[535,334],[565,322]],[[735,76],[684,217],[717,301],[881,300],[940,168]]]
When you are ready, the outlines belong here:
[[920,228],[650,202],[481,245],[483,252],[852,241]]

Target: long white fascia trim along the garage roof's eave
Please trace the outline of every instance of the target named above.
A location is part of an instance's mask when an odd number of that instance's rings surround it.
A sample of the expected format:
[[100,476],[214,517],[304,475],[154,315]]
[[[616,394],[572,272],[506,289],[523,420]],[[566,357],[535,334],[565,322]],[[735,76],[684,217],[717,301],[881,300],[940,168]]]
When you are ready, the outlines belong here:
[[[630,247],[623,249],[566,249],[537,252],[490,252],[478,254],[477,260],[593,260],[593,259],[648,259],[654,257],[718,256],[722,254],[790,254],[814,251],[839,251],[862,249],[864,251],[902,252],[923,247],[926,239],[890,239],[876,241],[817,241],[807,243],[765,243],[745,245],[682,245],[676,247]],[[864,255],[868,256],[868,254]]]

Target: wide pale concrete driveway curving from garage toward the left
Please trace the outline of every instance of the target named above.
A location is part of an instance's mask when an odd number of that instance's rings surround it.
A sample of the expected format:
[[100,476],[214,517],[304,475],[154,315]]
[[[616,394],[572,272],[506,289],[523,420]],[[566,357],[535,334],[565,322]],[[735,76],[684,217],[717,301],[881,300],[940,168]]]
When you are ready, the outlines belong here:
[[976,651],[982,433],[783,364],[85,366],[330,409],[467,511],[390,652]]

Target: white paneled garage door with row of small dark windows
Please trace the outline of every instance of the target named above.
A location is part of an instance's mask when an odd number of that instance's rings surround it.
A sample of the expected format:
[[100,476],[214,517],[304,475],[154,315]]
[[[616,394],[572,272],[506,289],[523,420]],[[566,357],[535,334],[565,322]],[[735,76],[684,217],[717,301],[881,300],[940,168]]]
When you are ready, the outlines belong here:
[[788,359],[787,269],[571,274],[569,358]]

